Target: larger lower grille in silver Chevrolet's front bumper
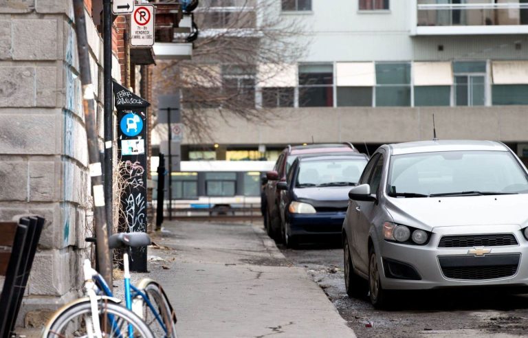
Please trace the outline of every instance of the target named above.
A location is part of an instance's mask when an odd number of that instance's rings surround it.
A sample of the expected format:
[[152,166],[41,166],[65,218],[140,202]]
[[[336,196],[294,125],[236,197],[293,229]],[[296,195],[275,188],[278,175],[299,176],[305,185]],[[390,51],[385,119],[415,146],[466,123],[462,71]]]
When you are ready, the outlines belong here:
[[476,256],[440,256],[445,278],[453,280],[492,280],[515,275],[520,254]]

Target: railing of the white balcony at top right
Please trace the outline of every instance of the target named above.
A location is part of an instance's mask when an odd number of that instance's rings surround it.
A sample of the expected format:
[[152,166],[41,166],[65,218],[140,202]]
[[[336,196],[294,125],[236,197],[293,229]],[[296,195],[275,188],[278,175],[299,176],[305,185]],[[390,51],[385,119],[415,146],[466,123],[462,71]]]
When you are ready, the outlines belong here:
[[528,3],[418,3],[418,26],[528,25]]

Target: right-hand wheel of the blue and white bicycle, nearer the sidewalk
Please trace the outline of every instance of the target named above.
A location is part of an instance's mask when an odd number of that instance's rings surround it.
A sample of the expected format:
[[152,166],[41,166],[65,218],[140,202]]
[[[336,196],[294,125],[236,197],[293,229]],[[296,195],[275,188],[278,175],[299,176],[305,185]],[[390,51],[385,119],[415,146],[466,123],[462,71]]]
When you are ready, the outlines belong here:
[[162,286],[145,278],[137,284],[137,289],[146,295],[150,304],[137,294],[133,300],[133,311],[146,322],[156,337],[176,338],[176,315]]

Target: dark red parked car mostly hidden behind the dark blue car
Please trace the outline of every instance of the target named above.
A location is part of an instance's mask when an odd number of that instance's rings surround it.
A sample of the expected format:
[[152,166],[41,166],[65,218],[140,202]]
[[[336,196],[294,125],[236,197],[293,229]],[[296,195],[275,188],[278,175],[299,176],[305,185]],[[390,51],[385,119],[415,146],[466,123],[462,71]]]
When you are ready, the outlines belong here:
[[350,143],[345,144],[309,144],[307,146],[287,146],[275,163],[273,170],[266,173],[261,194],[261,209],[263,210],[264,227],[270,237],[281,239],[281,215],[279,213],[280,194],[276,189],[279,181],[286,181],[286,173],[299,155],[307,154],[340,154],[359,153]]

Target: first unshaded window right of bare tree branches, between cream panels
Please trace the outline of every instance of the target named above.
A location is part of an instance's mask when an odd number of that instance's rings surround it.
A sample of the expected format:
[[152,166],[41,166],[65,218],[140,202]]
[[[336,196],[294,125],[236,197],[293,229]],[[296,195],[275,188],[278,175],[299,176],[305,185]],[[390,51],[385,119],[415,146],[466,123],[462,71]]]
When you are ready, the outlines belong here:
[[299,106],[333,106],[333,65],[299,65]]

